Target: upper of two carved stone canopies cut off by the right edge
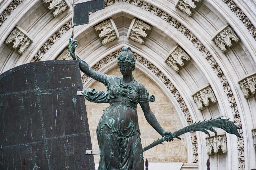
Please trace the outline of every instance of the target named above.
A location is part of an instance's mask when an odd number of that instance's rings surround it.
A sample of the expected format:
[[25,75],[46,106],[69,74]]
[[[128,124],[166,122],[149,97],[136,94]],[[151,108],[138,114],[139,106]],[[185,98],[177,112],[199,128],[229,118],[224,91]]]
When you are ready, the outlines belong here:
[[238,81],[240,89],[244,92],[245,98],[250,98],[256,92],[256,71],[247,74]]

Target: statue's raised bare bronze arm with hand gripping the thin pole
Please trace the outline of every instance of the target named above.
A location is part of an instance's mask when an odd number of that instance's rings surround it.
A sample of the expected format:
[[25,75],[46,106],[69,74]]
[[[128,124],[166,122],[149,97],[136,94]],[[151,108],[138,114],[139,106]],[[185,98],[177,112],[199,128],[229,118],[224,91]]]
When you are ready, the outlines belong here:
[[[78,41],[74,40],[71,42],[71,39],[72,39],[72,36],[70,36],[69,38],[69,52],[73,60],[76,60],[75,48],[78,46],[78,43],[77,43]],[[93,78],[94,80],[97,80],[106,85],[107,74],[103,74],[93,70],[85,61],[81,60],[78,56],[77,56],[77,60],[79,62],[79,67],[82,70],[82,72],[84,72],[86,75]]]

